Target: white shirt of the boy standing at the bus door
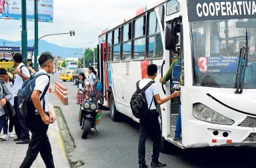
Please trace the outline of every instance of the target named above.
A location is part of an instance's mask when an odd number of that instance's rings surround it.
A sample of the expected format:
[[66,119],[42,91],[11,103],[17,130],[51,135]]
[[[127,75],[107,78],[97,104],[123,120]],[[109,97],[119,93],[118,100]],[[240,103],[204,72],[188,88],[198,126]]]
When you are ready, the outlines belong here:
[[[151,80],[149,78],[144,78],[143,80],[139,81],[139,88],[140,89],[144,88],[150,81],[153,81],[153,80]],[[149,88],[147,88],[147,90],[145,90],[145,96],[147,99],[147,107],[148,108],[151,104],[153,96],[155,96],[157,94],[159,94],[159,92],[157,90],[156,83],[151,84],[151,86],[149,86]],[[150,110],[155,110],[155,109],[156,109],[155,102],[153,100]]]

